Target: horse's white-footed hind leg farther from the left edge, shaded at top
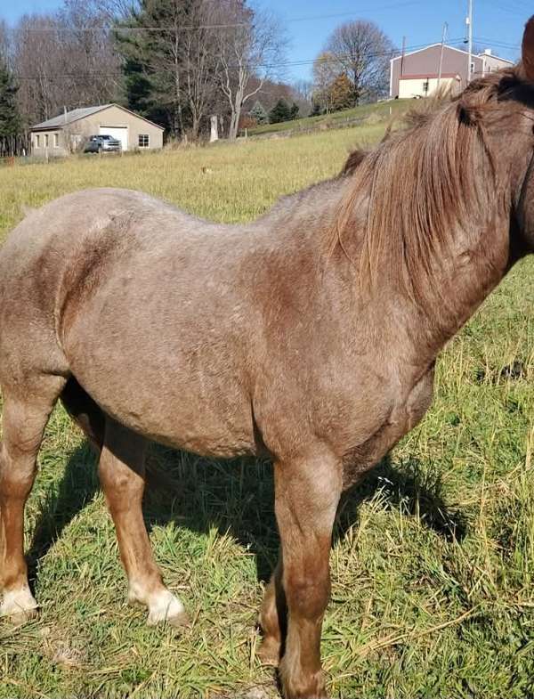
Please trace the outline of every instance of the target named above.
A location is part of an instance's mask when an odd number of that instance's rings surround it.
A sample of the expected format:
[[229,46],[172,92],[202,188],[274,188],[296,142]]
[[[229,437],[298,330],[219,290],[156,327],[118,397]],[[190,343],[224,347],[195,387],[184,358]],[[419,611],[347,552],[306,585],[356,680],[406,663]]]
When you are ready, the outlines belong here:
[[128,577],[128,599],[149,609],[150,626],[188,623],[182,602],[163,584],[142,517],[147,442],[106,419],[99,475],[117,530],[118,548]]

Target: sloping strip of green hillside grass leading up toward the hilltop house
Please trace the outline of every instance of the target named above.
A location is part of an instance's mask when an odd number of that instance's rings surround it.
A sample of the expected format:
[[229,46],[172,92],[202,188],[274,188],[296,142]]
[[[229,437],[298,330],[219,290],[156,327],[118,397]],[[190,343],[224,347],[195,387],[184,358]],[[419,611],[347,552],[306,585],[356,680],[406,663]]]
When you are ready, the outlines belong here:
[[380,102],[379,104],[362,104],[352,110],[335,111],[332,114],[321,114],[318,117],[305,117],[295,121],[285,121],[281,124],[265,124],[248,129],[251,136],[263,134],[279,134],[287,131],[305,131],[309,129],[326,129],[343,126],[345,121],[361,119],[365,121],[386,120],[396,117],[413,107],[413,100],[393,100],[392,102]]

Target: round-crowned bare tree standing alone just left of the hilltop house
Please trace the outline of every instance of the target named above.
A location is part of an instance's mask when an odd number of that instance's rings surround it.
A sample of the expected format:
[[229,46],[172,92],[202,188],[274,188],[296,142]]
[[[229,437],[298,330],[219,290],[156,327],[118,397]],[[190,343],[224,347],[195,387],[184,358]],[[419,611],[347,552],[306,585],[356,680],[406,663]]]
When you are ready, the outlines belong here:
[[339,72],[352,83],[352,105],[387,92],[388,71],[394,48],[374,22],[356,20],[342,24],[328,39],[326,51]]

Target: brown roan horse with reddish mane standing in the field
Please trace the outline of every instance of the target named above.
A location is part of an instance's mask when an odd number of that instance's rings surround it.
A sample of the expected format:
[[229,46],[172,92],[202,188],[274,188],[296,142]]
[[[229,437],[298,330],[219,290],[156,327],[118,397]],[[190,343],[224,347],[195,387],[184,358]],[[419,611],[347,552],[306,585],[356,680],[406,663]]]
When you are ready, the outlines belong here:
[[534,251],[533,126],[534,17],[516,68],[254,224],[113,189],[28,215],[0,253],[2,614],[36,609],[23,512],[61,398],[101,451],[129,596],[150,623],[186,616],[143,524],[148,441],[271,456],[281,555],[263,656],[288,698],[326,696],[338,500],[423,417],[443,345]]

